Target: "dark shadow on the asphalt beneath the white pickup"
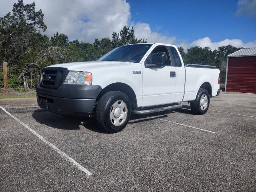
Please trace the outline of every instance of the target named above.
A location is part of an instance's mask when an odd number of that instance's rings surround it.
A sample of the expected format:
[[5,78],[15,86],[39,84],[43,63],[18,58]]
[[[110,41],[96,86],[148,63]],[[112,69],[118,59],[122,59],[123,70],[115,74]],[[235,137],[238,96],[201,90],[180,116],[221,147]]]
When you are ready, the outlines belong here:
[[[182,108],[170,110],[170,111],[156,112],[156,113],[146,114],[146,115],[132,114],[128,124],[136,124],[139,122],[152,121],[155,118],[165,118],[169,114],[172,114],[175,112],[192,114],[190,110],[190,106],[184,105]],[[32,113],[32,117],[36,120],[36,122],[52,128],[63,129],[63,130],[80,130],[80,126],[83,126],[88,130],[107,134],[107,132],[105,132],[98,126],[95,118],[62,116],[62,115],[54,114],[52,112],[49,112],[43,109],[35,110]]]

